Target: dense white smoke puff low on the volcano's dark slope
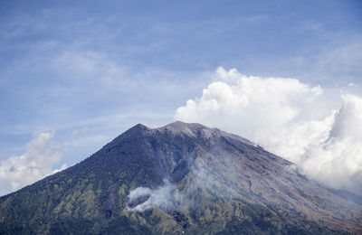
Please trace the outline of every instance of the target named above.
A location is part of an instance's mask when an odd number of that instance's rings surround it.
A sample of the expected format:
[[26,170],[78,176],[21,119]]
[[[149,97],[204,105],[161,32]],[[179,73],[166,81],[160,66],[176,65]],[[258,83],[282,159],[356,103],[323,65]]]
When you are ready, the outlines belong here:
[[147,200],[140,202],[134,207],[128,207],[129,211],[146,211],[153,207],[166,210],[171,208],[175,204],[173,191],[175,185],[169,183],[167,179],[164,179],[164,184],[158,186],[156,189],[150,189],[147,187],[138,187],[129,193],[129,204],[137,202],[139,198],[147,197]]

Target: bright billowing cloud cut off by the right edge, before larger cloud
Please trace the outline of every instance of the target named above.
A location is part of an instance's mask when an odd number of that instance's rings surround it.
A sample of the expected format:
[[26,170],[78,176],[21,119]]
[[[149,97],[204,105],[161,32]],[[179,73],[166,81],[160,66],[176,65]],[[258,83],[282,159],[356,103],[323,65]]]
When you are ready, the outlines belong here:
[[306,174],[327,185],[362,194],[362,98],[342,96],[326,141],[306,149]]

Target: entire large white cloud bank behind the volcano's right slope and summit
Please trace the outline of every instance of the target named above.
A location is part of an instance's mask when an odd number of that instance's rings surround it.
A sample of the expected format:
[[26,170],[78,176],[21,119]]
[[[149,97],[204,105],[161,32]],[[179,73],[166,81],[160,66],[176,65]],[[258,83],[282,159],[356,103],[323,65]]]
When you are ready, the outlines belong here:
[[320,183],[362,194],[362,98],[345,94],[336,102],[324,91],[218,68],[201,98],[177,108],[175,119],[245,136]]

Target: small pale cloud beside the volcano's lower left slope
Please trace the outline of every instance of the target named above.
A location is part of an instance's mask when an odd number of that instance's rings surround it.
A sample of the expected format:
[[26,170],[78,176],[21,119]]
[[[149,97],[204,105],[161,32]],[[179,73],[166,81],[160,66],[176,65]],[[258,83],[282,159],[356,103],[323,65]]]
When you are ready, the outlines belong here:
[[62,158],[62,146],[52,140],[53,132],[43,132],[26,145],[23,155],[14,155],[0,162],[2,193],[18,190],[43,177],[66,168],[53,169]]

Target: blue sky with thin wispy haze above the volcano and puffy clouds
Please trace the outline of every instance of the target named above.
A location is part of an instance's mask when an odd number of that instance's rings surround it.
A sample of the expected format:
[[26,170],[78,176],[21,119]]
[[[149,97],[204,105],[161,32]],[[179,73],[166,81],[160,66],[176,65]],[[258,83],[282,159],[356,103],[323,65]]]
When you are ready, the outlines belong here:
[[172,122],[220,66],[329,89],[361,64],[360,1],[1,1],[0,161],[53,132],[59,168]]

